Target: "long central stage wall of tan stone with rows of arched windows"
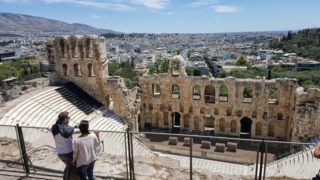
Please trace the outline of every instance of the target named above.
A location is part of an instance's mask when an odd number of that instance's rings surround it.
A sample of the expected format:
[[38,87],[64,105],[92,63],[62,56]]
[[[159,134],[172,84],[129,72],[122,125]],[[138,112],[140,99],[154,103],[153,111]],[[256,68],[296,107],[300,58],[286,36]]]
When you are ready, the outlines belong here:
[[[174,60],[179,60],[179,58],[171,59],[169,65]],[[159,94],[154,93],[153,83],[159,84]],[[172,94],[174,83],[180,87],[178,98]],[[181,131],[198,129],[203,132],[205,124],[213,124],[215,135],[239,136],[241,123],[244,125],[250,123],[251,120],[251,137],[288,140],[288,124],[293,112],[290,107],[291,104],[294,104],[296,89],[295,79],[265,80],[264,78],[236,79],[234,77],[212,79],[186,76],[183,72],[177,74],[169,66],[168,73],[144,75],[140,78],[139,84],[142,89],[142,127],[150,123],[155,127],[172,128],[174,119],[171,115],[177,112],[180,115]],[[198,96],[193,95],[195,84],[200,86],[199,99],[195,99]],[[208,102],[205,100],[207,85],[214,87],[214,94],[209,96],[211,99]],[[219,90],[222,85],[228,88],[227,101],[219,99]],[[250,103],[243,102],[243,89],[247,86],[253,89]],[[271,88],[278,88],[279,96],[276,101],[269,103]],[[243,117],[248,117],[250,120],[241,122]],[[231,130],[232,120],[235,130]],[[261,134],[255,132],[257,122],[261,123]],[[271,122],[273,124],[270,125]],[[270,126],[273,130],[269,132]]]

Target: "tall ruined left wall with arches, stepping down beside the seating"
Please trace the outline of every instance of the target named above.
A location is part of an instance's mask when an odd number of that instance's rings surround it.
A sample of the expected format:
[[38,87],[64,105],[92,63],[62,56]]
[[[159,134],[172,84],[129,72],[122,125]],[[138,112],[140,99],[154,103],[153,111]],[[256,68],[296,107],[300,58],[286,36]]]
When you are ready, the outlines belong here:
[[104,37],[59,36],[46,42],[46,50],[50,68],[56,71],[54,82],[72,81],[106,108],[112,103],[124,123],[130,122],[131,130],[137,130],[136,88],[127,90],[122,78],[108,76]]

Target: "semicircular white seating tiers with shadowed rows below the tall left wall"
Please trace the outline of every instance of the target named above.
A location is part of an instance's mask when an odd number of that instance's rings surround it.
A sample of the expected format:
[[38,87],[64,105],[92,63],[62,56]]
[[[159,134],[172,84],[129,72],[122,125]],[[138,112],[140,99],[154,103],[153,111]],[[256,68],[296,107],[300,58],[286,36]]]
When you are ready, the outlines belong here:
[[125,128],[119,116],[107,113],[102,103],[73,82],[43,91],[17,104],[0,119],[0,124],[47,127],[55,123],[61,111],[69,112],[71,126],[88,120],[90,129],[119,131]]

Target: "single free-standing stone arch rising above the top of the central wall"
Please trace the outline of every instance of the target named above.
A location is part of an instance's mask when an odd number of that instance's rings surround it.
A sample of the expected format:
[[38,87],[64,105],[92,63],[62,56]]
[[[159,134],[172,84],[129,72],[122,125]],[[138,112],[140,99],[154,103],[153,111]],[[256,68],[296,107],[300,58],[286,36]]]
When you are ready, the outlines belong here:
[[185,75],[184,60],[181,55],[174,55],[169,60],[168,71],[172,76]]

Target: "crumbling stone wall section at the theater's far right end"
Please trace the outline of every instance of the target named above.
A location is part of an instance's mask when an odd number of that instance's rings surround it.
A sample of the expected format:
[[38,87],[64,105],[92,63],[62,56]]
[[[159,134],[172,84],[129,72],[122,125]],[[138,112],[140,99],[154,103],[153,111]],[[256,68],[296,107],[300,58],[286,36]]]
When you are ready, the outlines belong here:
[[290,124],[291,141],[306,142],[307,138],[320,133],[320,89],[309,88],[306,92],[297,88],[294,117]]

